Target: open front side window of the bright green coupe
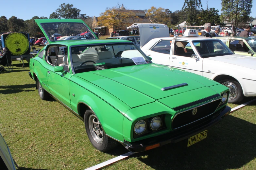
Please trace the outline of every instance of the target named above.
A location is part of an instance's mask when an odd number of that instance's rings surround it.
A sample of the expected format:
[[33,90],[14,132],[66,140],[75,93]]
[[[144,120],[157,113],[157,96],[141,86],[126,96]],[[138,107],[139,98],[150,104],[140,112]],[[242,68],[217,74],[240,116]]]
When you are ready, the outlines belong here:
[[65,71],[69,72],[67,61],[66,46],[50,46],[47,49],[46,62],[52,66],[62,66]]

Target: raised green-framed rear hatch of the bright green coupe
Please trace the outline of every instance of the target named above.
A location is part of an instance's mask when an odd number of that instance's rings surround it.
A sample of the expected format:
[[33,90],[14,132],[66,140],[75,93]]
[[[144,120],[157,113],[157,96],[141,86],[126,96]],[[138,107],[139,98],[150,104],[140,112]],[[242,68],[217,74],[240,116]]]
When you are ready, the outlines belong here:
[[80,19],[36,19],[35,21],[49,44],[56,42],[50,41],[50,36],[56,33],[61,36],[67,36],[72,34],[78,35],[88,31],[89,34],[94,36],[94,39],[97,39],[93,31]]

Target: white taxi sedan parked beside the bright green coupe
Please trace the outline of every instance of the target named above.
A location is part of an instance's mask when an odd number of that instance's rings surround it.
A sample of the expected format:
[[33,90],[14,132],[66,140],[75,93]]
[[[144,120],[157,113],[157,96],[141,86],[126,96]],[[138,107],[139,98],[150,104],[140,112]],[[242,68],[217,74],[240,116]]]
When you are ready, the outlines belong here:
[[256,96],[256,57],[236,55],[219,39],[154,38],[141,50],[153,63],[193,72],[229,87],[230,103]]

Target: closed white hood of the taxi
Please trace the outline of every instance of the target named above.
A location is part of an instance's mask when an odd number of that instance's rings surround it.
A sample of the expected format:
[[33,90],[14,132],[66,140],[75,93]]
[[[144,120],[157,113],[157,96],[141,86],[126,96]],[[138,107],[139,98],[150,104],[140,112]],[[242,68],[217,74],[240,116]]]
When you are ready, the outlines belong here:
[[219,62],[228,63],[228,64],[234,64],[234,65],[256,70],[256,57],[233,54],[233,55],[224,55],[224,56],[218,56],[218,57],[209,57],[205,59],[219,61]]

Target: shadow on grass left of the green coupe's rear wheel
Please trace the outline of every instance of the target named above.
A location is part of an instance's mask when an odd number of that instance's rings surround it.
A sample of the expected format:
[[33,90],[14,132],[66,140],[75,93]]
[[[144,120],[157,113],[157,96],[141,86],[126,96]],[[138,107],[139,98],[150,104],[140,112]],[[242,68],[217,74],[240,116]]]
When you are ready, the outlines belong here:
[[[35,90],[24,90],[29,88],[35,88],[36,84],[24,84],[24,85],[10,85],[10,86],[0,86],[0,94],[13,94],[19,92],[32,92]],[[5,89],[5,90],[2,90]]]

